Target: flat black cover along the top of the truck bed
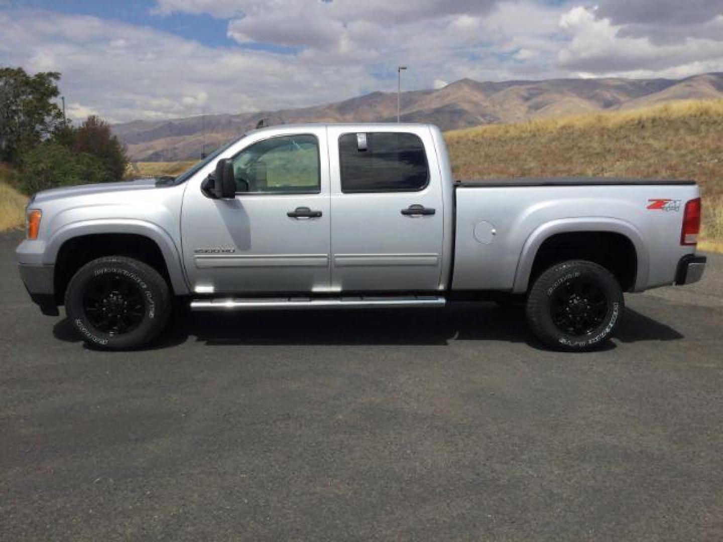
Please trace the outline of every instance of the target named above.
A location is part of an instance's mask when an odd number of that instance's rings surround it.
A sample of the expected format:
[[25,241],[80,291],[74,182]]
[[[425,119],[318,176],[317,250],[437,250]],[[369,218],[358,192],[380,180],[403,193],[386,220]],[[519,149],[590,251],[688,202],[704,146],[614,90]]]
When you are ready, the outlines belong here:
[[696,184],[696,181],[675,178],[632,177],[508,177],[456,181],[458,188],[485,188],[500,186],[669,186]]

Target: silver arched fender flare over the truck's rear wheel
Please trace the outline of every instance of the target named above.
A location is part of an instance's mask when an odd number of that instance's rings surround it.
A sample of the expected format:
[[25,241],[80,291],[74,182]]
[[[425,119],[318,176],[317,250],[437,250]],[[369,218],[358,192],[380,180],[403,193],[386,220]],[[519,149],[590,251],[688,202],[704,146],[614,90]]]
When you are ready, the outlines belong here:
[[520,259],[515,271],[515,282],[513,291],[515,293],[524,293],[527,291],[532,265],[539,247],[548,238],[557,235],[557,233],[577,233],[577,232],[607,232],[620,233],[630,239],[635,247],[638,266],[636,272],[634,291],[643,291],[648,283],[650,257],[648,249],[643,242],[643,236],[633,224],[620,220],[618,218],[607,217],[578,217],[578,218],[562,218],[560,220],[551,220],[539,226],[533,231],[525,241],[522,248]]

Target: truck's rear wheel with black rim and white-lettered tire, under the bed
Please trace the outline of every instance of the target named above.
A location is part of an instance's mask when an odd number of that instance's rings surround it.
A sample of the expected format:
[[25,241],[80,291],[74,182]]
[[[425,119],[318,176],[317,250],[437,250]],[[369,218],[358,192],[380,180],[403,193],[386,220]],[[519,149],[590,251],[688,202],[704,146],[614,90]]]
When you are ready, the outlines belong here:
[[593,262],[571,260],[555,264],[535,280],[526,311],[543,343],[583,352],[609,339],[624,308],[623,291],[611,272]]

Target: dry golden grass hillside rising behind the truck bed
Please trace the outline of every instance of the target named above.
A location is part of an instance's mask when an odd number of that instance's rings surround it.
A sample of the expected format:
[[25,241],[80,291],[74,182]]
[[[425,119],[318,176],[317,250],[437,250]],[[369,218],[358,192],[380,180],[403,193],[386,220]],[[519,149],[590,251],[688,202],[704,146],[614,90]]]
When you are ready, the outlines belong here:
[[723,248],[723,100],[479,126],[445,139],[455,178],[693,178],[704,196],[701,248]]

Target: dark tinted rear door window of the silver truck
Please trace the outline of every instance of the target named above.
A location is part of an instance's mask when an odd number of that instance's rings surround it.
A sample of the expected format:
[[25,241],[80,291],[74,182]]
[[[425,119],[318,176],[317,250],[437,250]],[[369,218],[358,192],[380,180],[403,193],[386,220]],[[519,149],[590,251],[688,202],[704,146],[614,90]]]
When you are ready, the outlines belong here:
[[367,148],[357,134],[339,138],[342,192],[404,192],[427,186],[429,171],[422,139],[414,134],[365,134]]

